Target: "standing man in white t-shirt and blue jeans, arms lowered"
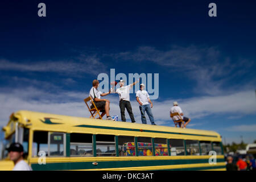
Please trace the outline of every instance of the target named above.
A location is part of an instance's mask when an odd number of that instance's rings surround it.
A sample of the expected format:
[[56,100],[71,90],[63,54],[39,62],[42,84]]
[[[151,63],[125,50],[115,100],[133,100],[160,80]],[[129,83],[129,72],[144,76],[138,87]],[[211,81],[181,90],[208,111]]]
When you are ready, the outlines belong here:
[[146,111],[148,117],[150,118],[151,125],[156,125],[154,122],[154,116],[151,111],[153,104],[149,98],[147,91],[144,90],[144,88],[145,88],[145,85],[141,84],[141,89],[136,92],[136,99],[137,99],[137,102],[139,103],[139,110],[141,110],[141,121],[143,124],[147,124],[147,119],[145,115],[145,111]]

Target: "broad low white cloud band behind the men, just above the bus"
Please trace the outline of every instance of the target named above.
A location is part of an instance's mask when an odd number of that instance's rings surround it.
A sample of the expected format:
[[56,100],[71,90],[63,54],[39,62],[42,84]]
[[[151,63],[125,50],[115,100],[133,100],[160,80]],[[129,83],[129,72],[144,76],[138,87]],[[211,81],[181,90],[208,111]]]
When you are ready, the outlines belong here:
[[[33,87],[5,90],[5,92],[1,90],[0,126],[6,125],[9,115],[18,110],[89,117],[88,109],[83,101],[87,96],[88,93],[83,92],[58,90],[56,93],[51,93]],[[135,94],[131,94],[130,97],[135,97]],[[105,98],[110,100],[110,115],[118,115],[118,119],[121,121],[118,94],[110,94]],[[256,113],[254,90],[237,92],[226,96],[193,97],[185,100],[170,98],[163,102],[153,101],[152,113],[156,124],[174,126],[170,118],[170,109],[173,101],[178,101],[184,115],[192,118],[191,127],[200,126],[196,119],[209,117],[210,115],[228,118],[234,114],[240,114],[243,117],[244,115]],[[131,106],[133,107],[135,121],[141,123],[141,113],[137,101],[131,101]],[[126,119],[130,121],[127,111]],[[147,123],[150,124],[148,117]]]

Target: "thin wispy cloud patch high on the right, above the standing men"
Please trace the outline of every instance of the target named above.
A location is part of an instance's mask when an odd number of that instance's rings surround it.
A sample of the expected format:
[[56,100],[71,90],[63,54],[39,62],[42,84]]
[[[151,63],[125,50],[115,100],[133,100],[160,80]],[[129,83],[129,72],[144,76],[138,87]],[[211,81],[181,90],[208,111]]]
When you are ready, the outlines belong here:
[[[135,51],[115,53],[111,56],[118,61],[151,61],[170,68],[172,73],[182,71],[189,79],[196,81],[193,88],[195,92],[215,96],[239,89],[241,85],[227,88],[226,84],[248,73],[248,69],[254,65],[253,61],[246,59],[232,60],[229,56],[222,55],[218,47],[193,45],[172,46],[165,51],[144,46],[138,47]],[[255,84],[256,81],[253,78],[246,82]]]

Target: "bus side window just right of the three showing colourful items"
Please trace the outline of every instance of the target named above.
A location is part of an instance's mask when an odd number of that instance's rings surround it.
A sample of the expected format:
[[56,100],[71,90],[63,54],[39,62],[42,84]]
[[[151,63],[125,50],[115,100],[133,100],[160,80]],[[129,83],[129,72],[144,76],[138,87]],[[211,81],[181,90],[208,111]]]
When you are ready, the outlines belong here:
[[171,155],[185,155],[183,139],[170,139]]

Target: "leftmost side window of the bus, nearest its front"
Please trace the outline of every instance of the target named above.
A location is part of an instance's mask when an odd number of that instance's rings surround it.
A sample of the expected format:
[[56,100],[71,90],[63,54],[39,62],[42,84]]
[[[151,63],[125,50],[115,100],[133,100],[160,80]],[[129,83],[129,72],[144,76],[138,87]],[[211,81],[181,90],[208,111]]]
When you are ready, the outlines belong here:
[[34,131],[32,156],[38,156],[39,151],[46,152],[48,156],[48,132],[47,131]]

